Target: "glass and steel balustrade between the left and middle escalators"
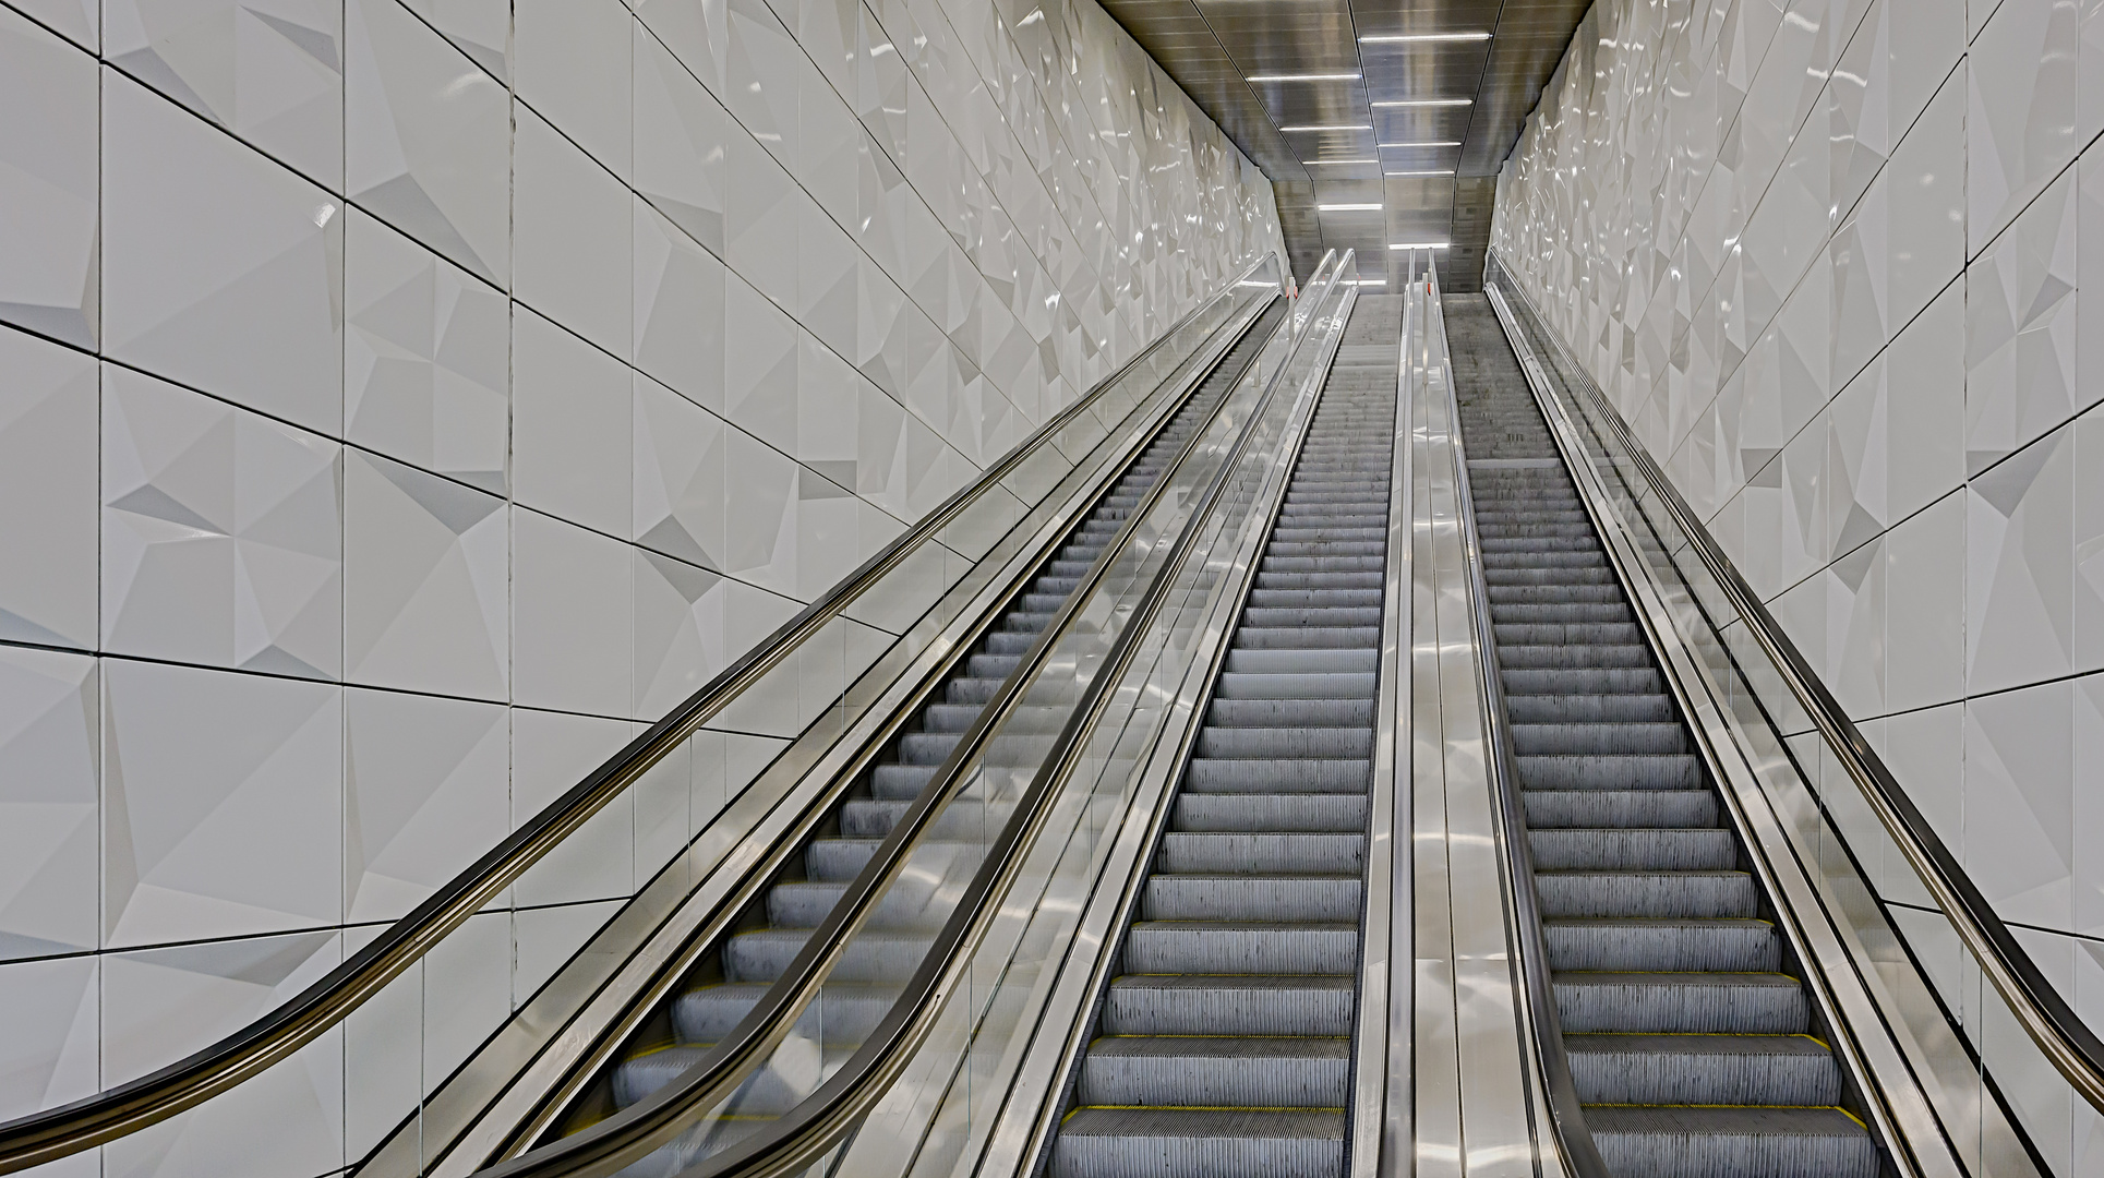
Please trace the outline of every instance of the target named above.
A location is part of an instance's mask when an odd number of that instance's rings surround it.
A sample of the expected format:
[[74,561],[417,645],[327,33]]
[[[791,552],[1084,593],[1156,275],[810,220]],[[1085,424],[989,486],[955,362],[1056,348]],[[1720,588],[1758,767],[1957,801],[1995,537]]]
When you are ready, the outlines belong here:
[[[1351,288],[1334,282],[1315,294],[1315,337],[1336,318],[1334,303],[1349,297]],[[1233,557],[1222,545],[1246,545],[1254,526],[1248,503],[1267,480],[1277,480],[1277,448],[1304,421],[1313,389],[1296,383],[1307,362],[1288,347],[1283,334],[1273,341],[1281,356],[1267,356],[1231,393],[1193,461],[1170,475],[1172,486],[1161,486],[1140,511],[1140,526],[1107,553],[1100,566],[1107,589],[1079,608],[1016,705],[957,764],[951,785],[932,789],[943,797],[922,835],[901,841],[896,860],[873,865],[865,877],[873,888],[863,913],[903,898],[890,913],[907,919],[882,928],[844,923],[835,949],[821,951],[829,959],[778,1018],[795,1022],[812,1003],[827,1001],[823,974],[846,961],[854,945],[901,928],[926,930],[945,917],[892,1012],[837,1073],[806,1071],[814,1088],[804,1104],[739,1140],[720,1134],[736,1117],[734,1104],[696,1109],[701,1123],[675,1151],[654,1157],[652,1172],[783,1174],[842,1140],[854,1151],[844,1170],[905,1172],[934,1157],[955,1159],[974,1132],[980,1144],[989,1140],[993,1115],[985,1102],[1006,1090],[987,1083],[989,1064],[1020,1060],[1020,1043],[1035,1029],[1020,1012],[1037,1010],[1050,993],[1044,961],[1067,949],[1075,888],[1088,888],[1090,865],[1117,848],[1130,850],[1128,837],[1109,835],[1124,831],[1111,818],[1121,812],[1132,766],[1159,757],[1161,719],[1176,713],[1170,700],[1180,698],[1178,686],[1199,656],[1191,639],[1206,627],[1195,627],[1195,618],[1208,602],[1218,608],[1229,591],[1222,568],[1233,568]],[[1185,698],[1182,713],[1189,709]],[[1065,717],[1065,726],[1046,740],[1031,730],[1033,717]],[[943,827],[959,816],[972,820]],[[945,833],[936,835],[938,829]],[[827,1048],[823,1020],[806,1020],[776,1041],[814,1060]],[[953,1132],[959,1125],[964,1136]]]

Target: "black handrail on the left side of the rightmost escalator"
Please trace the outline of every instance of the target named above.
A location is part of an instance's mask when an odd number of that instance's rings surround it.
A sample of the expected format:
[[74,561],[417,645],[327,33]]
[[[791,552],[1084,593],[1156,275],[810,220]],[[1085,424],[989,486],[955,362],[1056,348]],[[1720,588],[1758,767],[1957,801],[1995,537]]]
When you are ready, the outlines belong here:
[[[1437,276],[1429,280],[1429,299],[1439,299]],[[1431,316],[1427,316],[1429,320]],[[1427,322],[1427,330],[1431,324]],[[1441,316],[1441,332],[1445,322]],[[1445,381],[1448,404],[1454,421],[1454,496],[1460,517],[1462,566],[1469,570],[1469,612],[1477,635],[1477,673],[1481,675],[1479,696],[1483,709],[1483,740],[1490,757],[1483,766],[1492,797],[1498,808],[1500,837],[1506,875],[1511,879],[1509,900],[1513,905],[1513,936],[1519,940],[1513,955],[1519,966],[1521,984],[1528,991],[1528,1008],[1534,1020],[1534,1064],[1540,1069],[1542,1096],[1549,1104],[1549,1134],[1563,1159],[1563,1172],[1572,1178],[1610,1178],[1607,1163],[1593,1142],[1593,1130],[1584,1123],[1584,1106],[1578,1100],[1578,1085],[1572,1079],[1570,1052],[1563,1048],[1563,1020],[1557,1014],[1555,978],[1549,972],[1549,945],[1542,936],[1540,898],[1534,892],[1534,850],[1528,846],[1528,820],[1519,801],[1519,761],[1513,753],[1513,719],[1504,705],[1504,675],[1498,663],[1498,644],[1492,639],[1496,627],[1490,616],[1490,589],[1483,576],[1483,539],[1475,528],[1475,494],[1469,488],[1466,452],[1460,448],[1460,389]]]

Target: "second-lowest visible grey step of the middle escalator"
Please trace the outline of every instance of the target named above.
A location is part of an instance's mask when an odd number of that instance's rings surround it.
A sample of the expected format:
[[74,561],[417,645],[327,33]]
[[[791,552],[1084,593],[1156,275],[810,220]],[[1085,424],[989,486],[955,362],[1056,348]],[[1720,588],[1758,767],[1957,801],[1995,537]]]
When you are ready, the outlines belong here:
[[1117,1035],[1090,1043],[1081,1104],[1340,1109],[1351,1039]]

